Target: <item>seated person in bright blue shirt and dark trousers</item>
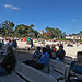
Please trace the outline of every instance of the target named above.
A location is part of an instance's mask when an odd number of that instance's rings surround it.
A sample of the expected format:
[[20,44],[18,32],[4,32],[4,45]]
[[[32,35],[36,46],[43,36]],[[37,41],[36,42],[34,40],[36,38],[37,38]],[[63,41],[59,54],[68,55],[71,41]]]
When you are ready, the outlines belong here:
[[47,52],[46,48],[43,47],[43,55],[40,59],[34,63],[33,67],[43,70],[44,66],[48,66],[48,65],[49,65],[49,54]]

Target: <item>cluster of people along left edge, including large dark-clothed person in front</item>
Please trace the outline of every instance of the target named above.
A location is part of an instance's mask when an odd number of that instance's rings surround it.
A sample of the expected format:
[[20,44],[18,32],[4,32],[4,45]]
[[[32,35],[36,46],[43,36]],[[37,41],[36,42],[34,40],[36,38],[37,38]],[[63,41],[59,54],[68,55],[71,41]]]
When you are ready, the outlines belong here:
[[0,75],[7,75],[14,70],[16,58],[13,52],[16,49],[17,43],[16,40],[11,39],[1,39],[0,40],[0,49],[4,50],[1,55],[4,55],[4,58],[0,59]]

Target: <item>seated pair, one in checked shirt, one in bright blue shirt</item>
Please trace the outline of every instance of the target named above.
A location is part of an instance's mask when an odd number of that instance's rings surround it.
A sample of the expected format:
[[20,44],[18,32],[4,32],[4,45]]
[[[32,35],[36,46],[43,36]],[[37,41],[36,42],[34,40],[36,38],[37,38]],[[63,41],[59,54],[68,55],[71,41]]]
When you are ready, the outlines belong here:
[[[37,51],[39,47],[37,47]],[[46,48],[43,47],[43,54],[38,52],[34,52],[33,58],[31,60],[26,60],[24,61],[24,63],[30,65],[36,69],[42,69],[44,68],[44,66],[48,66],[48,61],[49,61],[49,54],[46,51]]]

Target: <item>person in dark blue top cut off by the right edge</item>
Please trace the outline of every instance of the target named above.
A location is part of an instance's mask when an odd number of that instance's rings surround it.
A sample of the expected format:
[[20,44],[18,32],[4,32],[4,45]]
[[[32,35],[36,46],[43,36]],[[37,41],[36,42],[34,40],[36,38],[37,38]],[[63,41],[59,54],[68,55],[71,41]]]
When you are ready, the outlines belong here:
[[77,58],[70,67],[70,82],[82,82],[82,51],[77,54]]

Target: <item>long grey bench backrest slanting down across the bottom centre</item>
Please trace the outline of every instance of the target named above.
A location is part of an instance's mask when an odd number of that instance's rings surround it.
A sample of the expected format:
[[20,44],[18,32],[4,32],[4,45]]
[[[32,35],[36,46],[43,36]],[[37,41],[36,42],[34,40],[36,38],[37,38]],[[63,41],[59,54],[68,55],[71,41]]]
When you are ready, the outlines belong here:
[[56,79],[46,75],[44,72],[40,72],[39,70],[19,61],[17,66],[15,67],[15,72],[21,74],[30,82],[57,82]]

